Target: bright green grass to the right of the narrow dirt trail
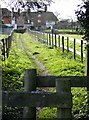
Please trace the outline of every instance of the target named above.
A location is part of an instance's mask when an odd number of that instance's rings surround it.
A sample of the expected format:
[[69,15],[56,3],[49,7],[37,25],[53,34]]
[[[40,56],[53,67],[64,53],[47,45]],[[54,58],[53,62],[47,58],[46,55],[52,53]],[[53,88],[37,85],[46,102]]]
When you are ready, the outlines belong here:
[[[23,35],[25,48],[30,50],[46,66],[50,75],[60,76],[84,76],[84,64],[72,59],[72,53],[61,52],[61,49],[52,49],[52,47],[42,44],[30,37],[27,33]],[[52,89],[52,91],[55,91]],[[72,88],[73,94],[73,116],[75,118],[86,116],[86,89]],[[44,108],[40,118],[55,118],[56,108]]]

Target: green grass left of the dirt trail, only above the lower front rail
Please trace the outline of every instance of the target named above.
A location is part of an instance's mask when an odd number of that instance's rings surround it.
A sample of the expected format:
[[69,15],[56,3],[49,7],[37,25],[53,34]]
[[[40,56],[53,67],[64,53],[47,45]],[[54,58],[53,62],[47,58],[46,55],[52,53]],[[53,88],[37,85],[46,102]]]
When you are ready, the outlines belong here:
[[[2,70],[3,70],[2,77],[3,77],[4,89],[13,90],[15,88],[16,90],[18,88],[21,88],[21,86],[18,86],[17,82],[22,84],[21,81],[24,76],[24,70],[35,67],[35,65],[32,63],[30,59],[31,58],[28,57],[20,47],[19,34],[14,34],[14,39],[12,42],[12,47],[10,49],[9,58],[6,59],[5,62],[2,62]],[[11,84],[9,84],[8,86],[7,83],[11,83]]]

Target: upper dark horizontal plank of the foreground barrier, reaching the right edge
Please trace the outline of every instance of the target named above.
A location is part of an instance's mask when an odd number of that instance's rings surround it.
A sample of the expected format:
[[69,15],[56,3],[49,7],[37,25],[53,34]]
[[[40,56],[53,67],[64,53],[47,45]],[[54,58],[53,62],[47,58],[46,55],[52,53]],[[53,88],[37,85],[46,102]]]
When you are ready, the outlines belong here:
[[71,87],[87,87],[89,76],[37,76],[37,87],[55,87],[57,79],[70,80]]

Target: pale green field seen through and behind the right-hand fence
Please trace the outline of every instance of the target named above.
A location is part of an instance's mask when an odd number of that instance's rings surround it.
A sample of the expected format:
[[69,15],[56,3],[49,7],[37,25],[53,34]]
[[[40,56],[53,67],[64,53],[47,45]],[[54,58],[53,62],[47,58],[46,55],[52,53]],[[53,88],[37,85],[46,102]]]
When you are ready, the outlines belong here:
[[[47,41],[47,34],[42,34],[42,33],[35,33],[34,32],[34,35],[37,35],[38,38],[42,38],[42,39],[45,39]],[[66,37],[69,37],[69,48],[72,48],[74,49],[74,42],[71,41],[71,38],[72,39],[76,39],[76,43],[75,43],[75,47],[76,47],[76,51],[78,52],[81,52],[81,40],[82,40],[82,35],[77,35],[77,34],[60,34],[60,44],[62,45],[62,36],[64,36],[64,46],[67,47],[67,38]],[[52,41],[52,35],[50,35],[50,39]],[[80,40],[80,43],[77,42],[77,39]],[[49,41],[49,37],[48,37],[48,41]],[[56,41],[58,43],[58,35],[56,36]],[[53,37],[53,43],[55,42],[55,37]],[[54,43],[55,44],[55,43]],[[83,44],[83,53],[85,53],[85,44]]]

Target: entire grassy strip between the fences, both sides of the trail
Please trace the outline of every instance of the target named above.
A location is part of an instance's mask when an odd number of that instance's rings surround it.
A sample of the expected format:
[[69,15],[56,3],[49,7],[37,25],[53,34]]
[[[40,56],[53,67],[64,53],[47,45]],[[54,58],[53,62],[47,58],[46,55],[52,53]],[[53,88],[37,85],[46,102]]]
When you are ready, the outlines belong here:
[[[29,51],[31,54],[26,54]],[[30,34],[22,36],[15,33],[10,49],[9,58],[2,63],[3,89],[10,91],[23,91],[24,70],[36,68],[37,74],[43,73],[38,63],[32,58],[35,56],[45,66],[48,75],[55,76],[84,76],[85,64],[72,59],[72,53],[62,53],[60,48],[53,49],[46,44],[40,43]],[[54,88],[50,91],[55,91]],[[87,93],[86,88],[72,88],[74,119],[87,116]],[[21,117],[22,108],[4,108],[4,117]],[[8,112],[9,111],[9,112]],[[12,112],[13,114],[11,114]],[[6,113],[6,114],[5,114]],[[44,108],[38,115],[39,118],[56,118],[56,108]]]

